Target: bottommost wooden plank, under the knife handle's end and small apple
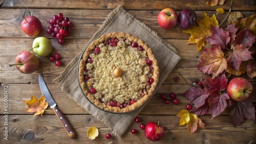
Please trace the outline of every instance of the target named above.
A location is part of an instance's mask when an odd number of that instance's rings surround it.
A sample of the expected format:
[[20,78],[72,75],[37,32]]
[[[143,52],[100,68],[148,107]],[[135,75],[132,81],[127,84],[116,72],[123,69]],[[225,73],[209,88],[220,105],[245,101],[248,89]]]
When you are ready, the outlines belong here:
[[[179,126],[180,118],[177,116],[160,115],[138,115],[140,123],[133,122],[121,138],[114,136],[111,130],[99,122],[92,115],[66,115],[74,127],[77,137],[68,138],[55,115],[8,115],[8,140],[1,134],[1,143],[155,143],[144,136],[144,131],[139,128],[141,123],[160,121],[164,127],[164,137],[158,143],[255,143],[256,122],[246,120],[241,126],[234,128],[227,116],[218,116],[210,120],[210,116],[201,117],[205,129],[198,129],[195,133],[189,134],[185,126]],[[1,115],[0,121],[4,122],[5,117]],[[99,136],[94,140],[87,137],[87,130],[95,126],[99,130]],[[0,126],[5,130],[4,125]],[[134,135],[131,129],[137,129]],[[2,133],[3,133],[2,131]],[[105,134],[111,133],[110,139]],[[30,134],[31,137],[28,137]],[[237,135],[237,136],[234,136]],[[131,138],[132,137],[132,138]],[[241,138],[243,137],[243,138]]]

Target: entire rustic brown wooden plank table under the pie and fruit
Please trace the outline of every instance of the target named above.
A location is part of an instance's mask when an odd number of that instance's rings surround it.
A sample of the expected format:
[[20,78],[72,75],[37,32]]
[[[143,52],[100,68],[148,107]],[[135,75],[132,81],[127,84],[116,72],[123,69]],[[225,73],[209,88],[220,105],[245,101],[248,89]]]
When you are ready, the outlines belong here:
[[[189,78],[201,78],[202,73],[197,70],[201,52],[197,52],[195,44],[186,44],[189,34],[181,32],[176,26],[171,30],[163,30],[157,22],[157,15],[160,10],[170,7],[179,13],[182,9],[189,8],[197,12],[198,17],[203,18],[203,13],[209,16],[216,14],[216,9],[223,7],[224,14],[218,14],[219,23],[224,19],[229,10],[231,0],[227,0],[223,6],[210,7],[206,1],[51,1],[51,0],[27,0],[27,1],[1,1],[0,6],[0,143],[153,143],[146,139],[144,131],[139,128],[139,124],[133,122],[121,138],[114,136],[111,130],[103,123],[90,115],[86,110],[77,105],[76,102],[52,82],[58,77],[71,60],[80,52],[93,34],[100,28],[105,17],[118,5],[134,15],[145,25],[156,31],[168,43],[176,47],[182,60],[166,78],[161,87],[157,90],[151,101],[139,113],[140,123],[150,121],[160,121],[165,129],[165,136],[156,143],[256,143],[256,122],[245,120],[241,126],[236,128],[231,124],[228,111],[211,120],[210,115],[200,116],[205,129],[198,129],[195,133],[189,134],[186,126],[179,126],[180,118],[176,114],[185,109],[189,102],[180,94],[178,105],[163,103],[159,98],[161,93],[170,92],[183,93],[189,85],[179,76],[178,72],[189,81]],[[232,11],[240,11],[244,17],[255,14],[255,1],[234,0]],[[58,44],[46,30],[48,21],[58,13],[63,13],[73,22],[73,29],[70,36],[66,38],[65,44]],[[26,16],[34,15],[38,17],[43,26],[43,30],[38,36],[45,36],[50,39],[53,45],[52,54],[61,55],[62,66],[57,67],[48,60],[48,57],[40,58],[39,69],[29,75],[19,73],[15,67],[9,67],[13,63],[15,56],[22,51],[32,47],[35,37],[29,37],[20,28],[20,23]],[[222,25],[223,28],[226,25]],[[45,81],[51,91],[58,107],[67,116],[74,127],[77,137],[68,138],[57,117],[51,112],[45,112],[42,116],[33,116],[34,113],[26,112],[27,106],[24,100],[30,100],[31,95],[40,98],[41,92],[38,85],[38,73],[44,71]],[[175,82],[174,78],[179,77]],[[243,76],[246,77],[246,76]],[[246,77],[247,78],[247,77]],[[250,79],[253,84],[252,96],[249,98],[256,104],[256,79]],[[4,88],[8,88],[8,107],[4,105]],[[8,108],[5,113],[4,108]],[[48,110],[51,110],[48,108]],[[6,116],[8,115],[8,117]],[[4,123],[8,122],[8,126]],[[95,126],[99,129],[99,136],[95,140],[87,137],[89,127]],[[8,127],[8,140],[5,140],[5,131]],[[130,131],[137,129],[136,134]],[[106,139],[105,134],[111,133],[112,138]]]

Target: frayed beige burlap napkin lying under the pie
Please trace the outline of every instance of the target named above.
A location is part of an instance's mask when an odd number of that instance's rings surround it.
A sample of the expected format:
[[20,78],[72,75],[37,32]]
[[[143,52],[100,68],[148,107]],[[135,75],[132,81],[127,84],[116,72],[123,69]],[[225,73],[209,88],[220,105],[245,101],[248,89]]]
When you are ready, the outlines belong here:
[[[172,45],[159,37],[156,32],[148,28],[144,23],[134,18],[133,15],[125,12],[121,6],[117,7],[108,15],[101,28],[94,34],[86,46],[100,35],[111,32],[125,32],[137,36],[152,48],[160,69],[159,82],[156,90],[181,59]],[[86,49],[86,46],[84,49]],[[65,71],[63,71],[58,78],[54,79],[53,82],[60,85],[61,89],[69,95],[70,99],[73,99],[78,105],[97,117],[99,121],[106,124],[116,136],[121,137],[145,104],[136,111],[126,114],[104,112],[92,105],[84,97],[77,80],[78,60],[82,51],[83,50],[81,50],[66,67]]]

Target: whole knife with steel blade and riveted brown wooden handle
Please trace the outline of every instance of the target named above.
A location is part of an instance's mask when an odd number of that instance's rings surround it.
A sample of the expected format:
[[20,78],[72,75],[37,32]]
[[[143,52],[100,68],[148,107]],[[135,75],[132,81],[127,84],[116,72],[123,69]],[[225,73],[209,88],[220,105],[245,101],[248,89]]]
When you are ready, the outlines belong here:
[[46,97],[46,101],[48,102],[50,108],[53,109],[53,111],[54,111],[55,115],[58,117],[60,123],[65,128],[68,136],[70,138],[74,138],[76,136],[76,133],[75,133],[73,127],[70,125],[68,119],[65,117],[65,115],[62,114],[62,112],[57,107],[57,104],[53,100],[52,95],[46,86],[45,80],[42,77],[42,73],[39,74],[38,81],[39,81],[39,86],[40,86],[42,95],[44,95]]

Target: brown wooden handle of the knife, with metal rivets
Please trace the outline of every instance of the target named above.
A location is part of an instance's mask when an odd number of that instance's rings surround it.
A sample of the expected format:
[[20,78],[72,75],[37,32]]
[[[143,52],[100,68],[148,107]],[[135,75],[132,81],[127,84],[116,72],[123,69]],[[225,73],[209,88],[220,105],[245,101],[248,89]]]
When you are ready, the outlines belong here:
[[68,119],[65,117],[65,115],[59,110],[58,107],[53,108],[54,113],[59,118],[60,123],[65,128],[68,136],[70,138],[74,138],[76,136],[76,132],[74,131],[73,127],[70,125]]

